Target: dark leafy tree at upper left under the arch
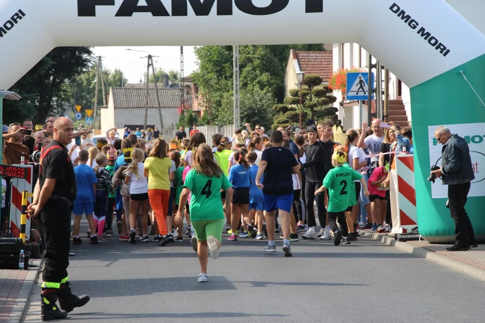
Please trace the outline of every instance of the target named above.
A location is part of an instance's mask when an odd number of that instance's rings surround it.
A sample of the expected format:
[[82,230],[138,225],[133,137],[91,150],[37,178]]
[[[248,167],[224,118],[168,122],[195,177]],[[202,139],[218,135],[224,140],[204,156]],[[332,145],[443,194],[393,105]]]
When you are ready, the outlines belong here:
[[35,123],[44,123],[47,116],[64,113],[64,103],[69,101],[67,85],[88,70],[92,57],[89,47],[53,49],[10,88],[22,99],[4,102],[4,122],[29,117]]

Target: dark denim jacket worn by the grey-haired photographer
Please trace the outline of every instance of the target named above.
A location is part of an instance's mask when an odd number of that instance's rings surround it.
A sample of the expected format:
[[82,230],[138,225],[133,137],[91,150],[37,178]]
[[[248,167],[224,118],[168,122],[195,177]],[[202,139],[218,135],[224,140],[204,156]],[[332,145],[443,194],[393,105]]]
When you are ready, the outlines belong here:
[[463,184],[475,179],[468,144],[457,134],[452,135],[443,145],[441,158],[443,184]]

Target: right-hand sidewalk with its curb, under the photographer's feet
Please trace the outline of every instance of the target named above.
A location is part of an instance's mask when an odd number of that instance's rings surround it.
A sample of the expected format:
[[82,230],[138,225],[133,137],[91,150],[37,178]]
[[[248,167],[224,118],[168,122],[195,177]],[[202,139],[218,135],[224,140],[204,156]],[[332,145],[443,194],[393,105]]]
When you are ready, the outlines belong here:
[[361,230],[360,235],[394,246],[399,250],[429,259],[435,263],[464,272],[485,281],[485,245],[468,251],[446,251],[446,244],[433,244],[425,240],[400,242],[388,234],[370,233]]

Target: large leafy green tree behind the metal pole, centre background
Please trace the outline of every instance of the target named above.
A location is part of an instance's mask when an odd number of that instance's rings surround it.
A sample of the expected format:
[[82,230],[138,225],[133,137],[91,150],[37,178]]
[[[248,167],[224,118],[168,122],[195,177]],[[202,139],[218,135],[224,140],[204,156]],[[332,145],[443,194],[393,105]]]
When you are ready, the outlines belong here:
[[[290,49],[303,51],[322,51],[322,44],[308,45],[248,45],[240,46],[241,93],[244,89],[260,90],[279,103],[284,99],[284,77]],[[206,109],[203,121],[207,123],[232,123],[233,110],[229,101],[233,91],[233,47],[200,46],[194,49],[198,70],[194,72],[194,82],[199,86],[203,108]],[[267,102],[267,101],[266,101]],[[242,104],[242,103],[241,103]],[[274,111],[268,108],[272,123]],[[223,106],[225,105],[225,106]],[[222,114],[228,114],[223,116]],[[262,122],[256,122],[262,123]]]

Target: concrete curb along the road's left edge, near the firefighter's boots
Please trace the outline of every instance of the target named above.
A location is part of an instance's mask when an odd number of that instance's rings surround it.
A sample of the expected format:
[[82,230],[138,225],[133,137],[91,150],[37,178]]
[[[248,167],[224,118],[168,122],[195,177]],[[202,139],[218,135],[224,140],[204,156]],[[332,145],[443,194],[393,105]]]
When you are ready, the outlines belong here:
[[22,284],[20,293],[17,296],[15,305],[12,307],[12,311],[10,312],[6,323],[20,323],[27,314],[27,310],[29,309],[30,296],[32,294],[35,283],[37,282],[37,277],[39,276],[40,269],[44,264],[44,259],[34,261],[34,263],[38,264],[39,266],[29,269],[27,277]]

